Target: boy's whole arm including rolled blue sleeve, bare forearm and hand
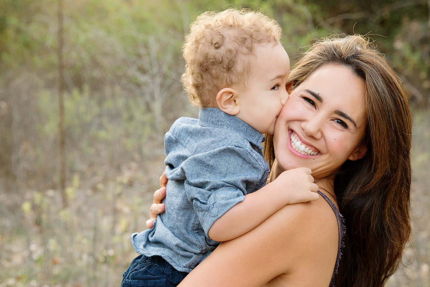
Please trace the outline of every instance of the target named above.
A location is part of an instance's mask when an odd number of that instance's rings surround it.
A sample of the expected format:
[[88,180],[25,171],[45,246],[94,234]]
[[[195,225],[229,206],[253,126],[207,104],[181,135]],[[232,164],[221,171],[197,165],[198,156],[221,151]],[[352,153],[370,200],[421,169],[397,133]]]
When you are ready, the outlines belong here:
[[181,166],[185,195],[205,234],[214,241],[243,235],[286,204],[318,199],[318,186],[313,184],[310,169],[304,167],[285,171],[247,194],[246,188],[261,180],[264,169],[255,155],[237,146],[193,155]]

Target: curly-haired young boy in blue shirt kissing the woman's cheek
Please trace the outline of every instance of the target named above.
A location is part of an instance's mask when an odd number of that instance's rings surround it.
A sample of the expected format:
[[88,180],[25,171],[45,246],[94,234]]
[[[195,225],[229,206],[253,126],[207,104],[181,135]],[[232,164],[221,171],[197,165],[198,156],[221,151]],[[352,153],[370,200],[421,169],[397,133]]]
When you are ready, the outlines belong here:
[[132,235],[142,255],[122,286],[176,286],[219,241],[245,234],[286,204],[318,198],[309,169],[264,186],[262,134],[273,134],[288,98],[281,33],[275,20],[247,9],[205,12],[191,24],[182,81],[199,119],[181,117],[166,133],[166,212],[154,228]]

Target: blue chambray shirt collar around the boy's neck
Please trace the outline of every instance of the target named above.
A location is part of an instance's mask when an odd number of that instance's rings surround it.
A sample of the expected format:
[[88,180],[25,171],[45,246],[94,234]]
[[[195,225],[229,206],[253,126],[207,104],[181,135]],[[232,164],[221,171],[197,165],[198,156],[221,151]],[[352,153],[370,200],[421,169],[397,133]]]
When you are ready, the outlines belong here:
[[259,148],[263,148],[261,143],[266,140],[258,130],[255,130],[240,118],[221,111],[219,108],[200,108],[199,125],[207,127],[208,124],[223,126],[237,131]]

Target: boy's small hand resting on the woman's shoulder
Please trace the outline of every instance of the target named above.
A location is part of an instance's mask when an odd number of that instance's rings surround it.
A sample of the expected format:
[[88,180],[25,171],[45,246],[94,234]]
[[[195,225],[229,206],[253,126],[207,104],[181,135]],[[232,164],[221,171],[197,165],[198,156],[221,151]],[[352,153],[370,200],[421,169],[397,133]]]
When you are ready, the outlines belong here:
[[307,167],[286,170],[270,184],[277,184],[280,198],[285,204],[316,201],[319,198],[318,185],[313,183],[312,171]]

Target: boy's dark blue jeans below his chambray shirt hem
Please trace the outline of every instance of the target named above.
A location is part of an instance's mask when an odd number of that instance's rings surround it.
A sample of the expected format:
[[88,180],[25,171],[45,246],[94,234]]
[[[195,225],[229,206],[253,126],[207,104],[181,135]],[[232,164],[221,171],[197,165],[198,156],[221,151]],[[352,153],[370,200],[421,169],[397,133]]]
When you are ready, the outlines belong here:
[[133,259],[123,273],[121,287],[175,287],[187,274],[173,268],[161,256],[147,257],[141,254]]

